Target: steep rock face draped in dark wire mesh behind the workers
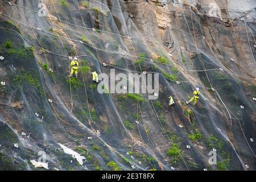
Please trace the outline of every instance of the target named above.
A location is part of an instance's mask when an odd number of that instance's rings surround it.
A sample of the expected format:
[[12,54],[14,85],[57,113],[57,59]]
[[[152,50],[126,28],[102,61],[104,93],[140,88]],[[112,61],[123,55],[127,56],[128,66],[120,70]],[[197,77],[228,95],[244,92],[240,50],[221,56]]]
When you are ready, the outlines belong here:
[[[30,162],[39,158],[60,170],[255,170],[255,7],[1,1],[0,169],[39,170]],[[67,77],[69,56],[79,59],[77,80]],[[97,92],[94,71],[110,93]],[[138,85],[108,88],[113,72],[144,71],[159,73],[157,100],[125,93]],[[193,107],[185,101],[195,88]]]

